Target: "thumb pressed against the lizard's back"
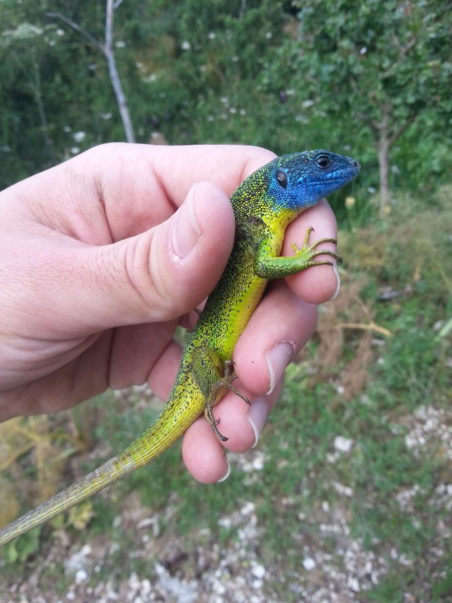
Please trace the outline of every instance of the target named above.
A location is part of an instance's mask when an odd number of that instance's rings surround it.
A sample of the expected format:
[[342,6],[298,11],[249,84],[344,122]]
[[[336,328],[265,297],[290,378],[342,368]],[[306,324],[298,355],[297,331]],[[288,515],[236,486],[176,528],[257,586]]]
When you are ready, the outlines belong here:
[[[74,337],[126,324],[171,320],[195,308],[221,276],[234,241],[227,195],[195,184],[164,223],[111,245],[71,248],[71,281],[60,283],[64,303],[57,332]],[[78,268],[78,270],[75,269]],[[75,275],[75,277],[74,277]],[[77,276],[78,275],[78,276]],[[54,291],[53,291],[54,292]]]

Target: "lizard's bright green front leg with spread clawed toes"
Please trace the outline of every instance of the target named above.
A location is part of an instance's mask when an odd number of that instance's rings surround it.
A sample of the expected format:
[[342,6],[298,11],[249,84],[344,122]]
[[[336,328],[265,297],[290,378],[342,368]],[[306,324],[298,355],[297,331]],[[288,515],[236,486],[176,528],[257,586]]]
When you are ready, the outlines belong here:
[[336,245],[336,239],[319,239],[312,245],[309,245],[309,236],[313,230],[312,226],[307,229],[301,249],[298,249],[297,245],[292,243],[292,247],[295,250],[295,256],[292,257],[272,255],[268,242],[266,240],[262,241],[257,249],[256,259],[254,260],[254,274],[262,279],[281,279],[284,276],[290,276],[290,274],[306,270],[306,268],[311,266],[322,266],[325,264],[332,266],[328,260],[315,261],[314,258],[318,256],[334,257],[339,264],[342,264],[342,257],[334,253],[334,251],[329,251],[328,249],[316,250],[318,245],[322,243],[334,243]]

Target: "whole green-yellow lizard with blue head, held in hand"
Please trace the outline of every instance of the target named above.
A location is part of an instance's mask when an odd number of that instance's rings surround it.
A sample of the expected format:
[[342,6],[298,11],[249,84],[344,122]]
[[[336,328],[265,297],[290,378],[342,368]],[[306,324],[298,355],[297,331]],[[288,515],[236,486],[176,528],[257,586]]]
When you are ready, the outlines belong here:
[[80,481],[0,530],[0,546],[79,504],[122,476],[147,464],[169,448],[203,412],[221,441],[213,408],[232,390],[250,404],[233,385],[236,373],[233,350],[259,304],[269,279],[279,279],[318,265],[332,265],[318,256],[342,258],[319,250],[334,238],[292,244],[294,256],[281,257],[286,227],[303,210],[325,195],[351,182],[359,163],[325,150],[304,151],[276,157],[245,178],[231,195],[236,230],[231,255],[222,276],[183,350],[180,367],[168,402],[140,437],[117,456]]

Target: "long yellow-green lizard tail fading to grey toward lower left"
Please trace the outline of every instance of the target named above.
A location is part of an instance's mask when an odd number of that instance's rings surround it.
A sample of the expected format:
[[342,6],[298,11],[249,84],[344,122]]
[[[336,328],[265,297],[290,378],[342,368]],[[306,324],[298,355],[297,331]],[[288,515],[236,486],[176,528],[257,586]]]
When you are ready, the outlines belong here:
[[113,456],[80,481],[55,494],[39,507],[0,529],[0,546],[74,507],[74,505],[79,504],[92,494],[116,482],[126,473],[143,467],[152,458],[169,448],[186,428],[187,423],[185,421],[177,420],[174,405],[170,398],[155,423],[118,456]]

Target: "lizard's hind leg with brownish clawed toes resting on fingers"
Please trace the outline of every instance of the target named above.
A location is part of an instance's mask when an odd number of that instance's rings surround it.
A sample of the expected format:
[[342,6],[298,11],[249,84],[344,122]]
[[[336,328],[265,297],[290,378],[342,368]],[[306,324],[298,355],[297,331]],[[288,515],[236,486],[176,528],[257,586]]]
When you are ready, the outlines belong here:
[[237,378],[233,366],[233,362],[227,360],[223,367],[221,360],[209,347],[199,346],[192,352],[191,370],[193,380],[195,380],[196,385],[198,385],[206,398],[204,417],[206,417],[207,421],[212,425],[213,431],[215,431],[216,435],[223,442],[227,441],[228,438],[224,437],[218,430],[219,419],[215,420],[213,407],[222,400],[228,390],[233,391],[236,396],[239,396],[247,404],[250,404],[250,400],[232,385],[234,379]]

